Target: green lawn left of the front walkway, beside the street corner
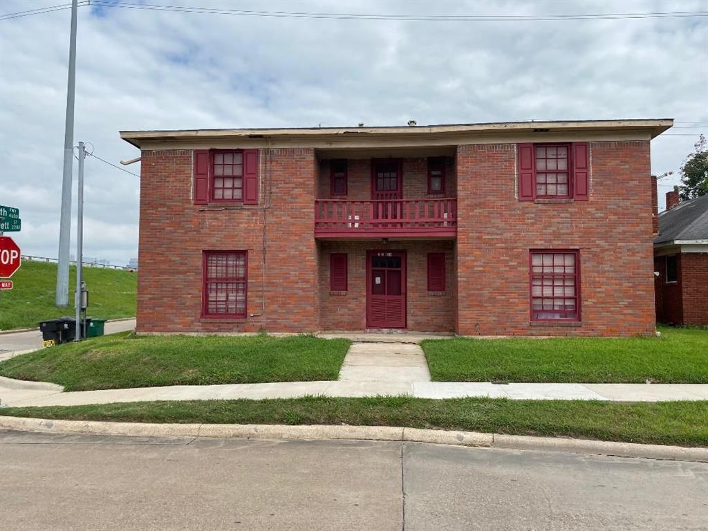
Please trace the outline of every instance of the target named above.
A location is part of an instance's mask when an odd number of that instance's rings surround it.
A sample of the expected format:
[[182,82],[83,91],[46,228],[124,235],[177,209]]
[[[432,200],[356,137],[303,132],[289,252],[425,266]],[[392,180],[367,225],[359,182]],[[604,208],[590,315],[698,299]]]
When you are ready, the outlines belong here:
[[0,376],[67,391],[337,379],[350,342],[314,336],[132,336],[115,333],[0,362]]

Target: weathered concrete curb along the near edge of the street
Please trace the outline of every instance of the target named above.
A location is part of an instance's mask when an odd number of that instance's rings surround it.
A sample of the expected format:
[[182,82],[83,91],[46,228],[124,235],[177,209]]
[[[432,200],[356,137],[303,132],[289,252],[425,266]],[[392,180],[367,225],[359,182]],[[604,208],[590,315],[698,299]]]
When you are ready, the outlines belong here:
[[156,424],[103,421],[53,421],[0,416],[0,429],[39,433],[132,435],[140,437],[205,437],[246,439],[329,439],[427,442],[506,450],[541,450],[644,459],[708,462],[708,448],[641,445],[588,439],[528,437],[469,431],[423,430],[394,426],[288,426],[280,424]]

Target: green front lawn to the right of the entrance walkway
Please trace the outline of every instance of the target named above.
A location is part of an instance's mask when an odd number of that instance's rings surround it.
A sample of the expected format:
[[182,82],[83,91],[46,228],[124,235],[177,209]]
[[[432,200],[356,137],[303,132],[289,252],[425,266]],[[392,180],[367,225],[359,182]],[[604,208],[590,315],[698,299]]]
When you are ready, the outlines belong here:
[[661,338],[423,341],[438,382],[708,383],[708,329],[661,327]]

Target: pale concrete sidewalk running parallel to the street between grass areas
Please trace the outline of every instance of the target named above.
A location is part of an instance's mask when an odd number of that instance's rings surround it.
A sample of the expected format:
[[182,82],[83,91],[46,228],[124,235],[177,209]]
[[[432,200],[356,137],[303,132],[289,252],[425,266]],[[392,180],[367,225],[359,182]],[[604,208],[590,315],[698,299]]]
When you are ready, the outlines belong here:
[[657,402],[708,400],[708,384],[491,384],[489,382],[278,382],[268,384],[173,385],[137,389],[62,392],[56,384],[0,377],[2,406],[78,406],[154,400],[280,399],[303,396],[407,395],[426,399],[469,396],[515,400]]

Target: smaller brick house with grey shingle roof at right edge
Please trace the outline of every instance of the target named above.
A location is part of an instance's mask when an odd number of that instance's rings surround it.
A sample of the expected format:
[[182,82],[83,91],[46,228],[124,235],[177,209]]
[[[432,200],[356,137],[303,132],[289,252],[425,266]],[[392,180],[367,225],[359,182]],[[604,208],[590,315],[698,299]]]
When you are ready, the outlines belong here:
[[666,194],[654,239],[656,320],[708,324],[708,195],[679,202]]

